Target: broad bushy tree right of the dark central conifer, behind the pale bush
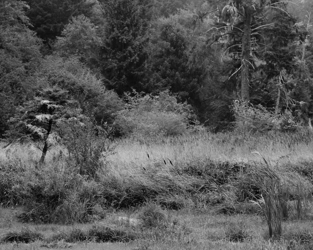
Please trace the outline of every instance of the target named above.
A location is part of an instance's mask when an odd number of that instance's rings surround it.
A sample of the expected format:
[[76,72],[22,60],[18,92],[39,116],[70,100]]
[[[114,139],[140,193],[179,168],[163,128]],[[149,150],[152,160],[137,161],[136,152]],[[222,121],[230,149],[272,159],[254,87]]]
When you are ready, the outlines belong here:
[[149,93],[169,89],[181,101],[197,103],[198,90],[206,78],[206,68],[200,60],[191,63],[197,43],[177,17],[160,18],[153,24],[147,46],[149,58],[145,63],[146,86]]

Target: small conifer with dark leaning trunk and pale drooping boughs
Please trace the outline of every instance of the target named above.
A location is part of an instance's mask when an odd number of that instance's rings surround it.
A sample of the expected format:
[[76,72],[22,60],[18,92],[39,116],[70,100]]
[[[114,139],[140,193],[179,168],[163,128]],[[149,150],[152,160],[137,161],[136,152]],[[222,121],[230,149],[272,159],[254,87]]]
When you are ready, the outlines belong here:
[[36,93],[35,98],[19,108],[19,115],[11,118],[11,129],[6,136],[19,140],[44,142],[40,163],[44,163],[49,148],[60,139],[58,124],[80,115],[80,109],[71,108],[68,92],[58,87],[46,88]]

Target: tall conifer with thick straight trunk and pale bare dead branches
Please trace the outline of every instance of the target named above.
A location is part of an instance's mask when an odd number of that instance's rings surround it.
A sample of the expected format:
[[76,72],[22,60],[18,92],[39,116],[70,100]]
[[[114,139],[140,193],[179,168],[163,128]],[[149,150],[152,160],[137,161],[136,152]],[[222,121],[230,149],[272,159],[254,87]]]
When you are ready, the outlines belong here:
[[240,73],[238,76],[241,85],[240,95],[245,100],[250,99],[251,70],[255,69],[251,56],[261,56],[258,51],[264,46],[262,31],[273,24],[267,22],[264,12],[268,8],[285,12],[282,5],[276,0],[228,1],[221,12],[221,20],[218,19],[215,29],[212,29],[219,31],[218,34],[213,32],[213,41],[227,45],[225,52],[231,53],[231,57],[237,61],[238,66],[231,77],[236,77]]

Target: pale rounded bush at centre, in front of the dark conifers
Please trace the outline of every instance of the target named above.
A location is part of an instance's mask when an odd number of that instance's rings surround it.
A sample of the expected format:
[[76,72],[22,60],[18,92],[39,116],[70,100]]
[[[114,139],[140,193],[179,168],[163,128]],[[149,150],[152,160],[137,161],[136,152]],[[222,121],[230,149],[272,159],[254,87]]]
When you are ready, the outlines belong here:
[[117,113],[116,129],[124,135],[176,136],[187,132],[190,123],[196,123],[190,106],[177,103],[168,92],[159,96],[141,97],[126,94],[126,109]]

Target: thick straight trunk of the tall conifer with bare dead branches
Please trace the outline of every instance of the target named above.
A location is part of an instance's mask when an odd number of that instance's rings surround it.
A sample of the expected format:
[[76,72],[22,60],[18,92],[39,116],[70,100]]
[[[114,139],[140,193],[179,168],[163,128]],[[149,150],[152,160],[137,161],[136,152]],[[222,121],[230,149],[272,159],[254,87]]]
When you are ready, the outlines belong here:
[[249,101],[249,69],[250,69],[250,51],[251,51],[251,20],[252,3],[248,1],[244,8],[244,34],[241,41],[241,98]]

